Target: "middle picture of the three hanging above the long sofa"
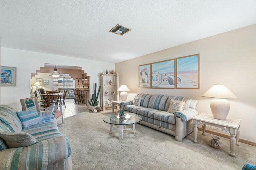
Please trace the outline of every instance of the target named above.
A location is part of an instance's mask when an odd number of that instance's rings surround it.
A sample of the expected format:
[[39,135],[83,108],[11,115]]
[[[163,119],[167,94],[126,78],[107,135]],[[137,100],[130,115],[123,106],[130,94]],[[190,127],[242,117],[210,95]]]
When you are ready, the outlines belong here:
[[152,88],[175,89],[175,59],[152,63]]

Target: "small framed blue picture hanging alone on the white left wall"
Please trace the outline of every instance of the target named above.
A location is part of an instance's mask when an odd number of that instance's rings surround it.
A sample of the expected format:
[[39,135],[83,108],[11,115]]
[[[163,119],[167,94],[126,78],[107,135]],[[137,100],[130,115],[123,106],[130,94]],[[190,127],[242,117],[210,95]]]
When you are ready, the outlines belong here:
[[16,86],[16,67],[1,66],[1,86]]

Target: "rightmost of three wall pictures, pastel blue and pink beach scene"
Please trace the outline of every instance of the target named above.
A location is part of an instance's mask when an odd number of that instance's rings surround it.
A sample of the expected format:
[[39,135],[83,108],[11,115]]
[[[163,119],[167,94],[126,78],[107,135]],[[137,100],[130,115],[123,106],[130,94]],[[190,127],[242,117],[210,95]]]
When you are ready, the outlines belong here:
[[176,88],[199,89],[199,54],[176,58]]

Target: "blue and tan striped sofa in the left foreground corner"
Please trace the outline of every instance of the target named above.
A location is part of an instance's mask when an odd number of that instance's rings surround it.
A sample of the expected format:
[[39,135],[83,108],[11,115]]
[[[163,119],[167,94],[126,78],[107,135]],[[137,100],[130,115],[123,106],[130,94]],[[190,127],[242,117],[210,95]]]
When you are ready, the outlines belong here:
[[[52,113],[50,117],[44,115],[41,123],[26,128],[22,127],[17,114],[12,107],[0,105],[0,170],[72,169],[68,138],[60,133],[55,121],[46,120],[52,118]],[[8,134],[10,139],[6,140],[3,134]],[[35,142],[26,145],[22,142],[26,147],[20,147],[20,141],[26,141],[20,139],[24,134]],[[12,144],[16,140],[18,142]]]

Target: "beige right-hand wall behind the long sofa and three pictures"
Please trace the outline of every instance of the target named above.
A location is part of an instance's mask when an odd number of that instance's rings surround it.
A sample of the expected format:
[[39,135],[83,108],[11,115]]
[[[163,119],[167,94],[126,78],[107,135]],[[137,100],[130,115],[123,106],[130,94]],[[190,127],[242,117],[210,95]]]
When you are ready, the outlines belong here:
[[[256,142],[255,30],[256,25],[252,25],[117,63],[119,84],[126,84],[130,89],[128,99],[132,99],[136,93],[193,97],[199,100],[198,113],[209,114],[212,99],[201,95],[214,84],[224,84],[239,98],[228,99],[231,106],[228,117],[242,119],[240,138]],[[200,89],[138,88],[138,65],[197,53],[200,53]],[[216,131],[228,134],[219,128]]]

